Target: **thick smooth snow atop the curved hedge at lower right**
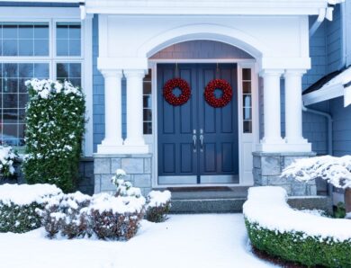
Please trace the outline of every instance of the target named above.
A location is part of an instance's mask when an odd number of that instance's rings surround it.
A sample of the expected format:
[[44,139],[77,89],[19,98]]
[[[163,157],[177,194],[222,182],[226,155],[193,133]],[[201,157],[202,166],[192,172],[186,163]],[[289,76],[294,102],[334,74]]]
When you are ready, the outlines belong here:
[[243,206],[245,218],[260,228],[284,233],[302,232],[306,237],[351,239],[349,219],[331,219],[293,210],[286,191],[277,186],[251,187]]

